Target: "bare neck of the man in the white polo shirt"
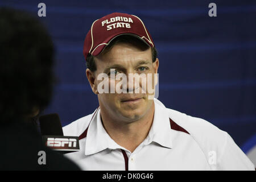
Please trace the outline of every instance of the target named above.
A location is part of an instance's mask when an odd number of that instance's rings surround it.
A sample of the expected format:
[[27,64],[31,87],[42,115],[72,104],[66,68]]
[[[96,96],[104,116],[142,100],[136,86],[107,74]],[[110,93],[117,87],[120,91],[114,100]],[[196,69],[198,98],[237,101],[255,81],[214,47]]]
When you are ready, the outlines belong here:
[[155,105],[153,102],[142,118],[127,123],[120,120],[115,121],[109,117],[104,109],[101,109],[101,121],[106,132],[117,144],[133,152],[147,137],[154,119],[154,111]]

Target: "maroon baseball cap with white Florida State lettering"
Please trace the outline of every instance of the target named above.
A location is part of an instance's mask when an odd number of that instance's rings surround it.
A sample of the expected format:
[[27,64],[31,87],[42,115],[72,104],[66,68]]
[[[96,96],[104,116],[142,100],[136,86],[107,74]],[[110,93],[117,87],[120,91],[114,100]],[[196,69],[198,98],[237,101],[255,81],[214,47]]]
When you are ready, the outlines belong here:
[[84,57],[99,55],[119,35],[132,35],[154,47],[150,33],[138,16],[112,13],[93,22],[84,41]]

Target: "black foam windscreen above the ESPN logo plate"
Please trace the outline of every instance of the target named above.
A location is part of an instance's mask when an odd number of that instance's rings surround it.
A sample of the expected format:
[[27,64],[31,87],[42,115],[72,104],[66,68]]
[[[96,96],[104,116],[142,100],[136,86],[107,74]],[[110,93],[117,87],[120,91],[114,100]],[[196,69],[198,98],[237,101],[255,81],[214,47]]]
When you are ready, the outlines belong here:
[[60,135],[63,136],[63,130],[58,114],[47,114],[39,117],[40,129],[42,135]]

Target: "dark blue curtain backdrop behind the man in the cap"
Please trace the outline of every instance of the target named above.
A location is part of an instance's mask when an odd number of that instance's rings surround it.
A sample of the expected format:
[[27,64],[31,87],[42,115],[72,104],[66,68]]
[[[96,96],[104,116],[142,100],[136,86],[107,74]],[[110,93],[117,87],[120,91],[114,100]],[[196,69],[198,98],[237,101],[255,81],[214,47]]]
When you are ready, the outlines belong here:
[[[30,11],[46,4],[48,28],[56,47],[51,105],[63,126],[98,106],[85,76],[82,47],[94,20],[113,12],[138,15],[159,53],[159,100],[206,119],[227,131],[247,152],[256,144],[255,1],[13,1],[0,6]],[[209,3],[217,17],[209,17]]]

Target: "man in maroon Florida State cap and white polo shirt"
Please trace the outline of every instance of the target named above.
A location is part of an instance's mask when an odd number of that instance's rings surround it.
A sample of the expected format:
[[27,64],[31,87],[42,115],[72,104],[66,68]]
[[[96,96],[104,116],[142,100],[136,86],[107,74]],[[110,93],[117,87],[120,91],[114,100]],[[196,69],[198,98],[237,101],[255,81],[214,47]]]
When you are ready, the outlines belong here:
[[166,108],[152,99],[143,79],[128,76],[150,75],[146,85],[156,85],[152,75],[158,73],[159,60],[137,16],[112,13],[93,22],[84,56],[100,106],[63,128],[64,135],[79,136],[81,150],[67,156],[82,169],[254,170],[228,133]]

